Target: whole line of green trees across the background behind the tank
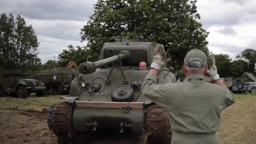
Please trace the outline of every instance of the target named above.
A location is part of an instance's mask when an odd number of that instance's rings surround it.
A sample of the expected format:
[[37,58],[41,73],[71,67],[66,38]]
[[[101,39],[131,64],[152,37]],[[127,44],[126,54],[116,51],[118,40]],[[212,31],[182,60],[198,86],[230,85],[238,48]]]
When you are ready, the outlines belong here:
[[[169,66],[182,69],[185,54],[194,48],[207,49],[208,32],[197,21],[196,1],[191,0],[99,0],[94,14],[81,28],[81,41],[86,46],[68,46],[59,54],[57,62],[48,60],[43,65],[38,57],[36,32],[20,15],[1,13],[0,17],[0,68],[22,69],[35,73],[43,69],[64,67],[70,61],[77,64],[97,60],[100,48],[108,39],[123,37],[132,40],[137,36],[155,41],[165,47],[172,60]],[[216,55],[221,77],[240,76],[242,72],[255,73],[256,50],[245,49],[236,60],[228,55]]]

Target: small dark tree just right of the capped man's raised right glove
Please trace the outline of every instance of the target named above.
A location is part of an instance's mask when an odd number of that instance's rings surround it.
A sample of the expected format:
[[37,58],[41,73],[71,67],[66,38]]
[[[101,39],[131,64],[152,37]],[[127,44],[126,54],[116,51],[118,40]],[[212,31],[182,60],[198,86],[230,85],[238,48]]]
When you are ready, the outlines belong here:
[[215,55],[215,60],[216,60],[217,71],[220,77],[223,78],[223,77],[232,76],[232,72],[231,72],[232,63],[229,55],[226,55],[226,54]]

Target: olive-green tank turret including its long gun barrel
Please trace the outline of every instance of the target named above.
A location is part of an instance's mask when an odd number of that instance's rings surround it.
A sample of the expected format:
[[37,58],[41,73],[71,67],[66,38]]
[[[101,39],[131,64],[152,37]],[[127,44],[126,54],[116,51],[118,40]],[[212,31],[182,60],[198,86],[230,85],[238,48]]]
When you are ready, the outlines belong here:
[[79,65],[81,73],[89,74],[112,63],[120,63],[122,66],[137,67],[140,62],[148,65],[152,62],[153,52],[158,43],[152,42],[109,42],[105,43],[101,50],[100,60],[97,62],[84,62]]

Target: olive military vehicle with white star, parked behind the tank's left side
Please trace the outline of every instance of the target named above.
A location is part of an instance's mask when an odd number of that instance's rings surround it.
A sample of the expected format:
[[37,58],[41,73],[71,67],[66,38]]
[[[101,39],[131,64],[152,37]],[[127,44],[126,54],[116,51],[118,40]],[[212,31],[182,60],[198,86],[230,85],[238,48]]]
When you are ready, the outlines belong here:
[[35,78],[45,84],[46,94],[65,94],[69,93],[71,81],[75,78],[75,73],[71,70],[79,72],[77,68],[54,68],[37,73]]

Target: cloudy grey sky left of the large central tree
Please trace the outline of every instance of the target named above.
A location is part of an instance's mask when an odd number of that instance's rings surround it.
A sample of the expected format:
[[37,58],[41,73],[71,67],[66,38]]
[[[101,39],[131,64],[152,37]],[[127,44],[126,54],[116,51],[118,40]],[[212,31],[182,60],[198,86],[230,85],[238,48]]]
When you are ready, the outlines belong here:
[[40,42],[37,50],[42,63],[67,49],[67,46],[84,46],[79,36],[80,29],[93,14],[97,1],[34,1],[34,0],[0,0],[1,12],[20,14],[32,25]]

